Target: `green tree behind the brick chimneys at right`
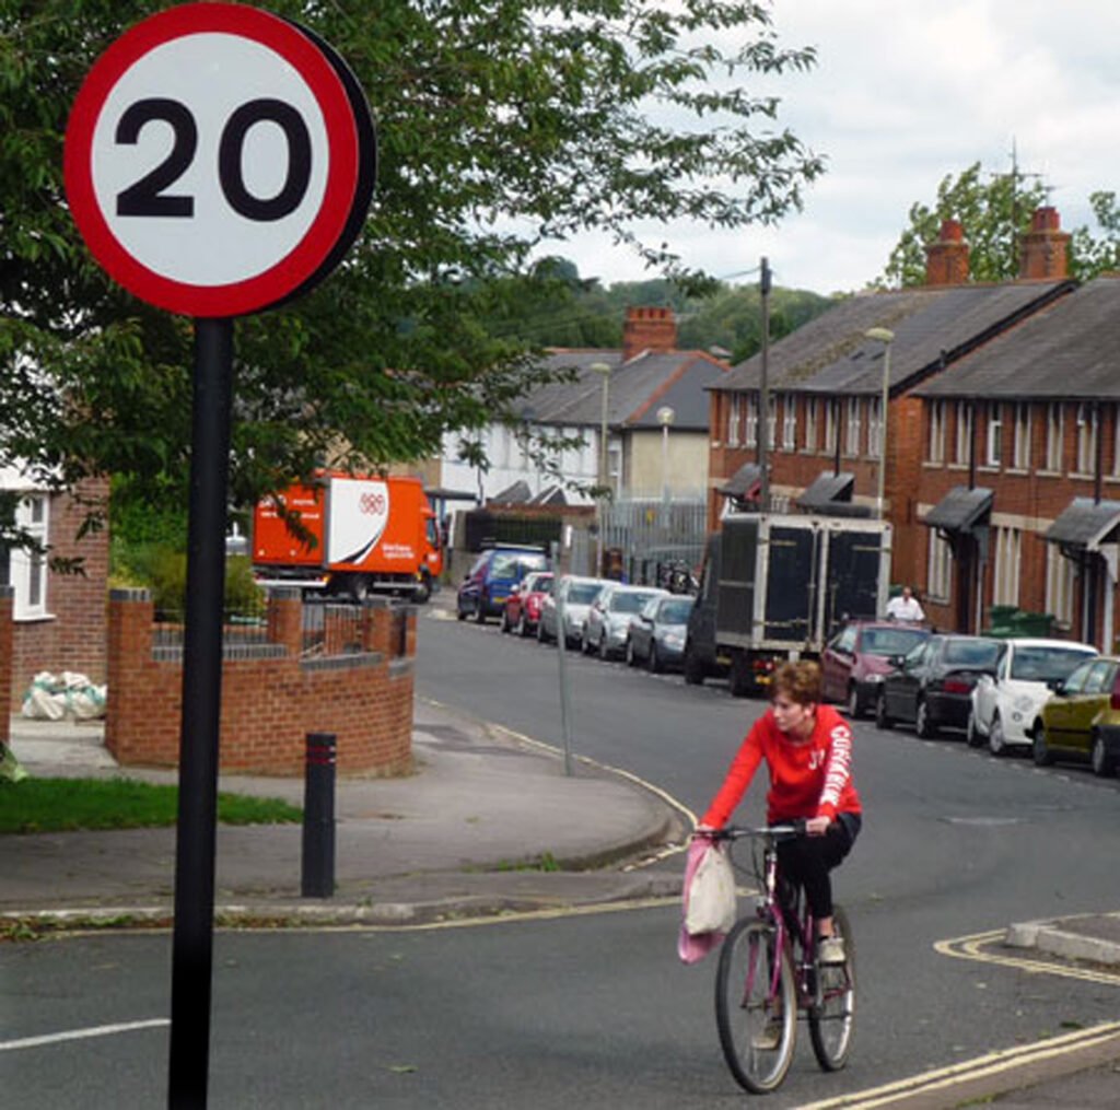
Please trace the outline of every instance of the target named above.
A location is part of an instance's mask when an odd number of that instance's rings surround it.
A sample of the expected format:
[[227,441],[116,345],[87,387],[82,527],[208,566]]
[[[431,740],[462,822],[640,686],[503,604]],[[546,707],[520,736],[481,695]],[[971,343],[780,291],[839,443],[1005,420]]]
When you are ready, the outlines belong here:
[[[879,288],[925,285],[925,246],[936,240],[943,220],[959,220],[969,243],[969,277],[972,281],[1012,281],[1019,276],[1020,242],[1030,230],[1035,209],[1047,203],[1048,189],[1036,175],[984,174],[980,162],[950,174],[937,186],[933,207],[916,203],[909,209],[909,226],[890,252]],[[1120,263],[1120,213],[1116,194],[1093,193],[1090,205],[1103,234],[1094,237],[1085,227],[1073,230],[1070,273],[1088,281]]]

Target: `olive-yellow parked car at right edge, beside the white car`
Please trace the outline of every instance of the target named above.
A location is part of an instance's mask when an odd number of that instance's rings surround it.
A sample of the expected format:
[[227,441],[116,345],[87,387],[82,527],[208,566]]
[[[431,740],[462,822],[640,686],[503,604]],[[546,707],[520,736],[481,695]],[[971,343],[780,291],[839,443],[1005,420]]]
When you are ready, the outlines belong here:
[[1054,683],[1038,712],[1034,757],[1044,767],[1055,759],[1089,761],[1098,775],[1120,766],[1120,657],[1086,660]]

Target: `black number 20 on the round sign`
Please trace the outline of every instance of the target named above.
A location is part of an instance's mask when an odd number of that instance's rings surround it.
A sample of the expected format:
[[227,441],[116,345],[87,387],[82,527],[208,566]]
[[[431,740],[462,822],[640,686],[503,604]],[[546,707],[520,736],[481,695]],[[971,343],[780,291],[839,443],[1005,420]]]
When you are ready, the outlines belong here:
[[[187,170],[198,150],[198,125],[186,104],[151,96],[131,104],[116,124],[119,143],[136,143],[146,123],[162,120],[175,131],[170,153],[155,169],[116,195],[119,216],[185,216],[195,214],[195,198],[165,192]],[[276,123],[288,140],[288,176],[276,196],[249,192],[242,167],[245,136],[258,123]],[[311,179],[311,137],[304,118],[279,100],[253,100],[242,104],[222,129],[217,177],[222,193],[239,215],[261,222],[283,220],[295,212]]]

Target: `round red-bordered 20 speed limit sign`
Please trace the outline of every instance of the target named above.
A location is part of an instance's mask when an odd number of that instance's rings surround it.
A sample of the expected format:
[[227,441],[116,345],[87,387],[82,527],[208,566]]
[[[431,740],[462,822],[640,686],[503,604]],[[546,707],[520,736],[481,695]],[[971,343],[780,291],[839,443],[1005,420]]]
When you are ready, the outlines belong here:
[[374,165],[368,105],[335,50],[240,4],[185,4],[127,31],[66,129],[90,250],[187,316],[256,311],[321,278],[361,228]]

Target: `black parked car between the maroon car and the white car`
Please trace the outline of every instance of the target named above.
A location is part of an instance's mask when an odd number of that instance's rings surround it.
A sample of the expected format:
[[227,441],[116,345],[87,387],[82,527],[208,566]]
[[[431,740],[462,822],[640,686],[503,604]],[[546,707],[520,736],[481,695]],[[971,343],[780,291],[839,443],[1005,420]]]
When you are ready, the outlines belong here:
[[903,656],[893,656],[875,702],[875,722],[914,725],[923,739],[939,728],[968,725],[972,688],[996,670],[1001,644],[983,636],[934,634]]

